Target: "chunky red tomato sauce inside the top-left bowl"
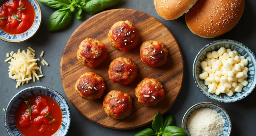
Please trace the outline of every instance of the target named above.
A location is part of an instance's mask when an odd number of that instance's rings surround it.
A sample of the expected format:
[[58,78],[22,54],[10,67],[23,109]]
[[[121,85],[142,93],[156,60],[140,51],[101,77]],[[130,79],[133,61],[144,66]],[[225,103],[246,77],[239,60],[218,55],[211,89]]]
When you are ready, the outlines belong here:
[[[25,9],[18,9],[20,7]],[[12,14],[20,19],[20,21],[15,19]],[[33,26],[35,9],[27,0],[7,0],[0,5],[0,18],[5,18],[0,21],[0,28],[4,32],[22,34]]]

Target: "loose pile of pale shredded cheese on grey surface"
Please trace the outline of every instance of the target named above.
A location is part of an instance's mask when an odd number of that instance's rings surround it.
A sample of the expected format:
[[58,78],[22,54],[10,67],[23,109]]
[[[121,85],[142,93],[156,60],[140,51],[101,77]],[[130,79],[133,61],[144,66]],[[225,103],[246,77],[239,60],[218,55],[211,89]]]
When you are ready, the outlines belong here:
[[[35,82],[35,78],[39,80],[40,77],[43,77],[42,74],[42,67],[37,66],[37,61],[40,61],[39,58],[36,58],[36,54],[34,53],[35,50],[31,47],[28,47],[27,52],[25,50],[21,51],[18,50],[17,53],[14,53],[13,51],[10,54],[6,54],[6,57],[8,57],[5,62],[9,61],[9,78],[16,80],[16,88],[18,88],[21,84],[29,83],[30,80],[33,79],[33,82]],[[42,56],[43,53],[41,53]],[[10,57],[9,57],[10,55]],[[41,61],[44,64],[48,63],[43,59]],[[36,71],[40,71],[41,75],[37,75]]]

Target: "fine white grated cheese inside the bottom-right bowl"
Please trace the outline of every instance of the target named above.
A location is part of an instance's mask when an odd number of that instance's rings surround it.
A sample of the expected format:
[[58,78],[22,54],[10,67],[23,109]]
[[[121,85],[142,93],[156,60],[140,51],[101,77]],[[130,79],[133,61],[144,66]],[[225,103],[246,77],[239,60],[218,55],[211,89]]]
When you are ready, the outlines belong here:
[[210,108],[195,110],[187,122],[191,136],[220,136],[224,125],[225,120],[220,113]]

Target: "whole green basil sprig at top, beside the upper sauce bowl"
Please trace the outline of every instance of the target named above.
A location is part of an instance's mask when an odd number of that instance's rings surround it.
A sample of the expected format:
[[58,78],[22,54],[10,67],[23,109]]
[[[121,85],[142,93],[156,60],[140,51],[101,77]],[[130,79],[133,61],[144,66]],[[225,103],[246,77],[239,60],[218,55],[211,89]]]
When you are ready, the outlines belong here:
[[68,25],[72,13],[77,10],[76,18],[82,19],[82,9],[90,14],[114,6],[119,0],[39,0],[42,4],[59,9],[52,13],[48,21],[48,31],[60,30]]

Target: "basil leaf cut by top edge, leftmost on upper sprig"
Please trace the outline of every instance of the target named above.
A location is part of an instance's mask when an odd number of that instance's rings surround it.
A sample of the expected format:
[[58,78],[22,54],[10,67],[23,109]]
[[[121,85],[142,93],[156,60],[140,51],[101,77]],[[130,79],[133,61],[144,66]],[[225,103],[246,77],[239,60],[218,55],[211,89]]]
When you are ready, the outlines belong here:
[[56,9],[67,8],[67,6],[71,3],[67,0],[39,0],[42,4]]

